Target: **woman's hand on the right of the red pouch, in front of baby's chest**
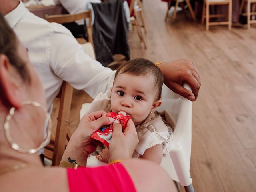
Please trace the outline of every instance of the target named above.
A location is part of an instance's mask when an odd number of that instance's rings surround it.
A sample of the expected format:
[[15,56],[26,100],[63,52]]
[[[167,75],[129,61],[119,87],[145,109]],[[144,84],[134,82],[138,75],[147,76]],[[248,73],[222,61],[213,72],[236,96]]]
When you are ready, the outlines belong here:
[[119,121],[113,124],[113,134],[109,144],[110,161],[117,159],[132,158],[132,154],[138,144],[136,128],[130,119],[122,132],[122,126]]

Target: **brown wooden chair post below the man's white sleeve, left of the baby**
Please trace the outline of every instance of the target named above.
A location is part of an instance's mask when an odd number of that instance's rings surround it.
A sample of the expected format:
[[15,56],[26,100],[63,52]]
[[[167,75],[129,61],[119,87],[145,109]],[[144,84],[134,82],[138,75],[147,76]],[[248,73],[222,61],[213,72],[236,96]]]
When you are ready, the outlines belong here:
[[70,107],[72,102],[73,87],[68,82],[63,82],[60,93],[60,106],[55,136],[51,135],[50,143],[45,147],[45,157],[52,159],[52,166],[58,166],[72,133],[68,127]]

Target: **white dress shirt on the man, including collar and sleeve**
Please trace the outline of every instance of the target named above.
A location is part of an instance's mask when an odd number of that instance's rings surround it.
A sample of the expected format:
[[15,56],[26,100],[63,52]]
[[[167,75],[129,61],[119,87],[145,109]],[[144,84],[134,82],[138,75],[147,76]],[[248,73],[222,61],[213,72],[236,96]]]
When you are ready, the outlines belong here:
[[48,111],[63,80],[92,98],[112,86],[115,72],[86,55],[64,26],[35,16],[22,3],[5,19],[28,48],[30,61],[46,92]]

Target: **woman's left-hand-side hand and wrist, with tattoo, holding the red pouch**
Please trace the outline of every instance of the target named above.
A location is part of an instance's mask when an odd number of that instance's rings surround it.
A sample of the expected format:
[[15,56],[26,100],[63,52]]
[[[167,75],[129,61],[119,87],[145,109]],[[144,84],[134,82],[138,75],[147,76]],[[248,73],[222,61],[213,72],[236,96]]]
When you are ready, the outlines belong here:
[[91,138],[93,132],[103,125],[110,125],[114,122],[113,118],[108,118],[105,115],[106,112],[97,111],[82,117],[68,142],[62,161],[68,161],[68,158],[71,158],[71,160],[76,160],[75,162],[79,165],[86,166],[88,155],[97,147],[96,141]]

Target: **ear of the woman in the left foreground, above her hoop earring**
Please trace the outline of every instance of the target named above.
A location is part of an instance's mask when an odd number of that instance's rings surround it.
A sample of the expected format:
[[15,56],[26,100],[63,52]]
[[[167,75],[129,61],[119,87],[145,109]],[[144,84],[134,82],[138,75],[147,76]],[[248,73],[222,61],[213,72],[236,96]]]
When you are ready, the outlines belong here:
[[8,57],[4,54],[0,54],[0,98],[5,106],[20,108],[22,105],[20,89],[18,83],[15,81],[17,78],[14,74],[17,73],[10,64]]

